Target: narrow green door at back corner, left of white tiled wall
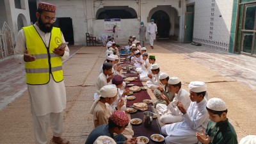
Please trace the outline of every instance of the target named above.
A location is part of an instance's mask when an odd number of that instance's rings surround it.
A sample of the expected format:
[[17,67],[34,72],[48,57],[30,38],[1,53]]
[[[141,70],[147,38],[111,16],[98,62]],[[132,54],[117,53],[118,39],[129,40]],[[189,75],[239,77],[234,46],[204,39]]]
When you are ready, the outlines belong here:
[[194,13],[186,12],[185,13],[185,34],[184,42],[191,42],[193,39],[193,27],[194,27]]

